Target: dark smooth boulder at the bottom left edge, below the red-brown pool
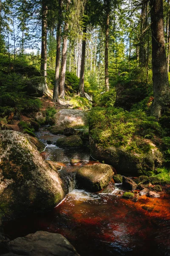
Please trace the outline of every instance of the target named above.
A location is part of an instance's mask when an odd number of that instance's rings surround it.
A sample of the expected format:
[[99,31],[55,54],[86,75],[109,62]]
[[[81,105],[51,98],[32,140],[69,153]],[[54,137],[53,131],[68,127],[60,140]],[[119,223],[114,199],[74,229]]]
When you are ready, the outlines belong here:
[[79,256],[75,248],[60,234],[37,231],[8,243],[3,256]]

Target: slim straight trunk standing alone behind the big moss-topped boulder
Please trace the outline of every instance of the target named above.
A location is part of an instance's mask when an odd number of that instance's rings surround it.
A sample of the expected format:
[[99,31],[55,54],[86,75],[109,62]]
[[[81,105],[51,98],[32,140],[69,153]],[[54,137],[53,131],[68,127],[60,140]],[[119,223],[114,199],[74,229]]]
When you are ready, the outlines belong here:
[[110,0],[105,0],[106,7],[106,26],[105,26],[105,90],[109,91],[109,73],[108,73],[108,50],[109,50],[109,5]]

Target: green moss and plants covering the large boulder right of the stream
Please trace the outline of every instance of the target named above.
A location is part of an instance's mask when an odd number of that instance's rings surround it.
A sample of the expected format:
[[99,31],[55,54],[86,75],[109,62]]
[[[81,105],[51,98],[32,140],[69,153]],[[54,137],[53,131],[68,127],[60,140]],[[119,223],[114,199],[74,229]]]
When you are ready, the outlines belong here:
[[142,111],[122,108],[93,108],[89,113],[92,138],[102,147],[124,146],[127,151],[144,154],[152,149],[150,141],[161,136],[161,126]]

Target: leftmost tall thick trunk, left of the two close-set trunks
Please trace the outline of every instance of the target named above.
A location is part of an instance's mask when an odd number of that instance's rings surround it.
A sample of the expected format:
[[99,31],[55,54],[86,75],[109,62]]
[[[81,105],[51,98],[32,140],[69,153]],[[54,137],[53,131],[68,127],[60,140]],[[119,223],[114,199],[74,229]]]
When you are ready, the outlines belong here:
[[[47,87],[47,6],[42,0],[42,39],[41,39],[41,73],[45,79],[45,87]],[[48,88],[46,88],[47,90]]]

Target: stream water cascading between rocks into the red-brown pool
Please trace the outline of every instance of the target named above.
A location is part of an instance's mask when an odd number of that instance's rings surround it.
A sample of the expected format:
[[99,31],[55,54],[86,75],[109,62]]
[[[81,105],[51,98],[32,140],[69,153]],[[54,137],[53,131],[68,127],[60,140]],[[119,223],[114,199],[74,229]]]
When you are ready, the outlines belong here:
[[[37,136],[53,143],[61,137],[43,130]],[[94,163],[85,148],[63,150],[51,144],[42,154],[64,163],[68,173],[74,169],[71,158]],[[69,193],[53,211],[8,221],[5,233],[11,239],[37,230],[61,233],[81,256],[170,255],[169,195],[142,196],[135,202],[121,197],[121,184],[111,183],[102,192],[90,193],[76,189],[74,172],[67,177]]]

